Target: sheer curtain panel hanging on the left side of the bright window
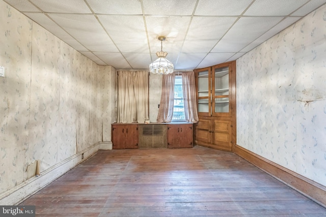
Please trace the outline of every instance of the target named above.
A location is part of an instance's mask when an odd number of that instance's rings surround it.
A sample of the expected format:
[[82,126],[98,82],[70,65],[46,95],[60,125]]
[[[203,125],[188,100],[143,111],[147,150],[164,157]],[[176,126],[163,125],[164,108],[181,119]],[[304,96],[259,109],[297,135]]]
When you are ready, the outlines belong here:
[[161,101],[159,104],[157,122],[169,123],[173,117],[175,73],[163,75]]

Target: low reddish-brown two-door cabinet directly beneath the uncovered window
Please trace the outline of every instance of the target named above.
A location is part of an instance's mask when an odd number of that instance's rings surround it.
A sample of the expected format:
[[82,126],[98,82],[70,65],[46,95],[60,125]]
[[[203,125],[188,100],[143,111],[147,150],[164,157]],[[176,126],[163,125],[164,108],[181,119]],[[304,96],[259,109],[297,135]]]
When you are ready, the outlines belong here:
[[168,148],[193,147],[193,125],[171,124],[167,127]]

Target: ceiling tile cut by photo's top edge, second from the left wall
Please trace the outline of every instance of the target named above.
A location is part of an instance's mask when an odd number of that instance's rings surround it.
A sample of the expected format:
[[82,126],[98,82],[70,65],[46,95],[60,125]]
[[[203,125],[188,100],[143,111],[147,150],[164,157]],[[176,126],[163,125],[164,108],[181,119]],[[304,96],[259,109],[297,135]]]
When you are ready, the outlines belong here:
[[44,12],[51,13],[92,13],[84,0],[30,0]]

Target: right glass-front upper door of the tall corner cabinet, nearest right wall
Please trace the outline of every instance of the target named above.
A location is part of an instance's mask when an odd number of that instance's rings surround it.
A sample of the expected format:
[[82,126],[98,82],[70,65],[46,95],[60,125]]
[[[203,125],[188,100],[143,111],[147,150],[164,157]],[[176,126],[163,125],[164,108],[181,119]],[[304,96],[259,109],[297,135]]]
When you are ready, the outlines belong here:
[[212,68],[212,116],[231,116],[231,76],[229,65]]

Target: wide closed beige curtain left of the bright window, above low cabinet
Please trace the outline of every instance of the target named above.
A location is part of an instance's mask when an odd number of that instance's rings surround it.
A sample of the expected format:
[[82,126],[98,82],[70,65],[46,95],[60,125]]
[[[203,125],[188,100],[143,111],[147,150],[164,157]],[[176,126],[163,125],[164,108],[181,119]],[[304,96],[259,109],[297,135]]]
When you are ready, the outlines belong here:
[[118,72],[118,123],[144,123],[148,115],[148,72]]

